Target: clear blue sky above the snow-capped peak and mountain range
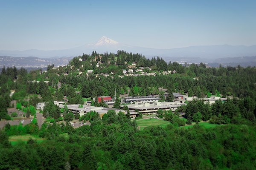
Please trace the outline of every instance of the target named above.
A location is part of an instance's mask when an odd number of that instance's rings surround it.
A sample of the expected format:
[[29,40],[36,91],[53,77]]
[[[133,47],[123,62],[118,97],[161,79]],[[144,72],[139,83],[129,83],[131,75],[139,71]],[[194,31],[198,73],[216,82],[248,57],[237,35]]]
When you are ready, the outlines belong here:
[[256,0],[0,0],[0,50],[255,45]]

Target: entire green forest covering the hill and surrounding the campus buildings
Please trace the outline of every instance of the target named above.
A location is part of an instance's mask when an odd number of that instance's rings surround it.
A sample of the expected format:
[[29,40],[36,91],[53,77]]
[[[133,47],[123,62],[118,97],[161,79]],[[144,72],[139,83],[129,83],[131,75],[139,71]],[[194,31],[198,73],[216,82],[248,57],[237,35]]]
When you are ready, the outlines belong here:
[[[134,71],[143,68],[155,76],[120,77],[122,70],[133,62]],[[87,74],[87,70],[93,73]],[[163,71],[172,74],[163,75]],[[41,128],[35,117],[28,125],[7,124],[0,130],[0,169],[3,170],[256,169],[255,67],[208,68],[203,63],[166,63],[160,57],[146,59],[141,54],[125,51],[116,54],[93,51],[90,55],[74,57],[67,66],[48,65],[47,71],[3,68],[0,87],[0,119],[6,119],[7,108],[14,107],[25,110],[28,116],[35,115],[38,102],[47,102],[42,113],[54,119]],[[144,130],[138,130],[137,122],[129,116],[113,110],[102,119],[94,113],[89,119],[90,126],[74,129],[69,123],[58,123],[65,111],[53,104],[53,100],[65,99],[67,104],[83,104],[83,98],[114,97],[115,91],[129,96],[163,96],[159,88],[166,88],[169,94],[179,92],[198,99],[178,108],[174,114],[159,111],[170,125]],[[209,105],[200,100],[210,95],[227,97],[227,101],[217,100]],[[16,100],[17,105],[11,105],[11,100]],[[187,122],[176,119],[179,113],[185,113]],[[222,125],[204,128],[196,123],[188,129],[178,127],[200,121]],[[23,134],[45,140],[10,144],[10,136]]]

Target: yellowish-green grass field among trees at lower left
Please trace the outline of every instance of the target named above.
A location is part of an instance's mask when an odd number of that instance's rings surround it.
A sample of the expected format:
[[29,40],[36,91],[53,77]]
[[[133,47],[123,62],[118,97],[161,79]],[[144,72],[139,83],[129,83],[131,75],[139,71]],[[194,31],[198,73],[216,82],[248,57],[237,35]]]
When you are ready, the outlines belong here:
[[41,143],[44,141],[43,138],[40,138],[39,136],[32,136],[32,135],[18,135],[18,136],[9,136],[9,141],[12,145],[18,144],[18,143],[27,143],[29,139],[36,139],[38,143]]

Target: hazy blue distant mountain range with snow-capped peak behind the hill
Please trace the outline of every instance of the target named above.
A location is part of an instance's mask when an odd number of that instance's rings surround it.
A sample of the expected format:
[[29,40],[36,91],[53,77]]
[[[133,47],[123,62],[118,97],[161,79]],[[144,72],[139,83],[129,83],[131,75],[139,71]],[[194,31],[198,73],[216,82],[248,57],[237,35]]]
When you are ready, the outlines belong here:
[[[92,51],[97,53],[104,53],[108,51],[116,53],[117,50],[124,50],[127,52],[140,53],[148,58],[154,56],[163,57],[168,61],[178,62],[220,62],[227,63],[233,57],[256,56],[256,45],[209,45],[209,46],[190,46],[185,48],[172,49],[155,49],[144,48],[132,45],[122,44],[108,37],[103,36],[99,41],[92,44],[82,45],[76,48],[69,48],[64,50],[25,50],[25,51],[0,51],[0,56],[11,57],[39,57],[56,59],[56,57],[75,57],[81,54],[91,54]],[[232,60],[232,59],[231,59]],[[241,61],[241,60],[239,60]],[[53,61],[52,61],[53,62]],[[0,65],[3,65],[2,62]]]

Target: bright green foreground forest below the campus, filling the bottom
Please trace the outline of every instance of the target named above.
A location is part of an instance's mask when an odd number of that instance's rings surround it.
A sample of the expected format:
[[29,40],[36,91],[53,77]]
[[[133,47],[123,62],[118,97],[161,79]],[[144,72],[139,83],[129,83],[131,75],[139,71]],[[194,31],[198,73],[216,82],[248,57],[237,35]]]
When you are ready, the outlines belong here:
[[[112,113],[111,113],[112,112]],[[22,133],[22,128],[20,129]],[[8,133],[0,131],[0,169],[236,169],[253,170],[255,126],[227,125],[205,129],[194,125],[179,129],[173,125],[137,130],[135,121],[113,111],[108,118],[95,116],[91,126],[73,129],[69,124],[43,125],[41,144],[11,146]],[[68,133],[68,139],[62,136]]]

